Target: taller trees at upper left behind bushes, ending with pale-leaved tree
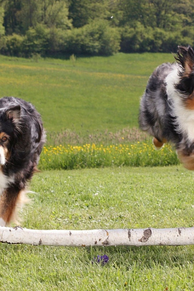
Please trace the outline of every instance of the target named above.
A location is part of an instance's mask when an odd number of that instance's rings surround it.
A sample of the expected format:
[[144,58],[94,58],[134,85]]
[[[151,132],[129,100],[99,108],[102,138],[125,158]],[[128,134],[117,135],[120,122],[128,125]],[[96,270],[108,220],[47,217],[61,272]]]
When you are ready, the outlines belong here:
[[66,0],[5,0],[7,34],[25,34],[38,24],[48,28],[71,28]]

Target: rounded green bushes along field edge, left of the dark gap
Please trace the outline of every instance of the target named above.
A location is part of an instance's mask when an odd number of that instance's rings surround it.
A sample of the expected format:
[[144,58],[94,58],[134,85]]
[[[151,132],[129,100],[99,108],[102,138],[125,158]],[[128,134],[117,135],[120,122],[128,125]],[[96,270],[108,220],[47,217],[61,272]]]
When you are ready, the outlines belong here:
[[2,42],[1,53],[31,57],[52,53],[112,55],[119,51],[120,34],[107,21],[91,22],[81,28],[64,30],[55,26],[37,24],[25,36],[9,35]]

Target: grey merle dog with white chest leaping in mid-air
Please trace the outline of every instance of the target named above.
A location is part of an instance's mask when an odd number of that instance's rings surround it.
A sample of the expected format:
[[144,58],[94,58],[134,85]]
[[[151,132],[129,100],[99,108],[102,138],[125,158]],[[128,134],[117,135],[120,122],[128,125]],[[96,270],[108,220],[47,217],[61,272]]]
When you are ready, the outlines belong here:
[[163,63],[150,76],[139,126],[153,136],[156,149],[172,142],[183,166],[194,170],[194,51],[178,46],[174,57],[174,63]]

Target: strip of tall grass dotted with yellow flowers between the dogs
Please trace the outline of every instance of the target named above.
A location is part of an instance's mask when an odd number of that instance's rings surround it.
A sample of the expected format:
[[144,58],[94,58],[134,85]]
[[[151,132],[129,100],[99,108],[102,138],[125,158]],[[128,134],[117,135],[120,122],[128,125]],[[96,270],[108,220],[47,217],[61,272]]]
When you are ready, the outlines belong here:
[[44,147],[39,168],[82,169],[108,166],[168,166],[177,165],[179,160],[171,145],[160,151],[153,148],[150,140],[135,144],[97,146],[94,143],[83,146]]

